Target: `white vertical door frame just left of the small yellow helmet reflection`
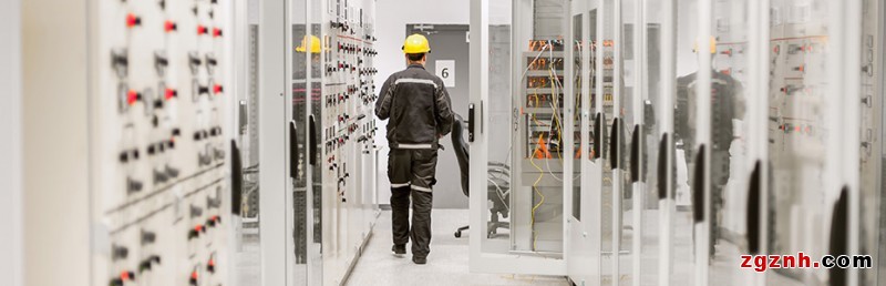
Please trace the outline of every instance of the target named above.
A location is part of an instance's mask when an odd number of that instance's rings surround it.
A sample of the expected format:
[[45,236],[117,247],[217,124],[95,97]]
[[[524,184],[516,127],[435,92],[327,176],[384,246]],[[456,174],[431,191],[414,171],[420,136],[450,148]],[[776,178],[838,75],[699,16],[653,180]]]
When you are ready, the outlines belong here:
[[[259,2],[259,232],[261,285],[286,285],[287,278],[287,203],[286,137],[288,122],[281,108],[291,92],[286,92],[285,28],[287,1]],[[291,69],[291,68],[290,68]],[[285,94],[289,94],[286,96]],[[282,226],[282,227],[281,227]]]

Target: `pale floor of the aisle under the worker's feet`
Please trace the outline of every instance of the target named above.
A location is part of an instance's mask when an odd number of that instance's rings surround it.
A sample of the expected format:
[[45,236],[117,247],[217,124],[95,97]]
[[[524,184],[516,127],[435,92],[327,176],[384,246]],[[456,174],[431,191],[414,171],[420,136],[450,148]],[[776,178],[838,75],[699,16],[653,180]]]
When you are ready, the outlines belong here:
[[410,253],[404,257],[391,254],[391,212],[382,212],[348,285],[569,285],[565,277],[470,273],[467,239],[473,233],[453,236],[455,228],[467,224],[467,210],[434,210],[427,264],[415,265]]

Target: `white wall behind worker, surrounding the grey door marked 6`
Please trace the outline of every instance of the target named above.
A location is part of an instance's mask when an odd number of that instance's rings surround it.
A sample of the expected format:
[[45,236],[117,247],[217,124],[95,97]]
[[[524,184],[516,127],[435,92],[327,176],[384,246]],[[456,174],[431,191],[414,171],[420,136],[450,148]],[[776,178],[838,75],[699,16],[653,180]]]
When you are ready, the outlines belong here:
[[[400,48],[406,39],[406,24],[467,24],[470,21],[470,0],[378,0],[375,2],[375,57],[374,65],[379,70],[375,75],[375,93],[394,72],[405,69],[405,60]],[[433,43],[431,43],[433,49]],[[388,140],[385,140],[387,122],[379,122],[375,142],[379,151],[379,203],[389,204],[391,185],[388,182]]]

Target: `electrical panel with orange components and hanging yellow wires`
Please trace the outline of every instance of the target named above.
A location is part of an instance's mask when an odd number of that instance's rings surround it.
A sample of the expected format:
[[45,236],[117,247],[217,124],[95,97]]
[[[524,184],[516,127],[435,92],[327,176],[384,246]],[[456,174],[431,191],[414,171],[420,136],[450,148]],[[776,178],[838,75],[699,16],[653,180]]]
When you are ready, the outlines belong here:
[[[560,229],[563,215],[564,165],[577,154],[567,151],[565,137],[580,142],[580,129],[565,133],[566,124],[576,124],[565,119],[566,51],[573,49],[563,40],[529,40],[526,51],[521,53],[518,70],[521,83],[515,90],[515,123],[518,124],[516,149],[514,149],[515,177],[519,191],[512,191],[512,234],[515,237],[513,252],[559,253],[563,251]],[[569,123],[567,123],[569,122]],[[575,168],[576,171],[578,168]]]

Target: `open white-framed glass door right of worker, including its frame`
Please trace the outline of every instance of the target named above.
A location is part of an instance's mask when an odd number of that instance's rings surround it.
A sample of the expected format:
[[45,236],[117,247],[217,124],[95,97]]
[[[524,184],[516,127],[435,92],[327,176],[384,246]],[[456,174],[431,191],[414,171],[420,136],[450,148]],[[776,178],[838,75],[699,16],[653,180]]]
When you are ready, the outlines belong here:
[[[568,8],[568,1],[472,1],[470,210],[472,234],[480,234],[470,236],[474,272],[566,275],[571,212],[564,211],[571,210],[566,190],[577,178],[578,135]],[[508,48],[501,49],[505,34]],[[499,57],[504,51],[511,57]]]

